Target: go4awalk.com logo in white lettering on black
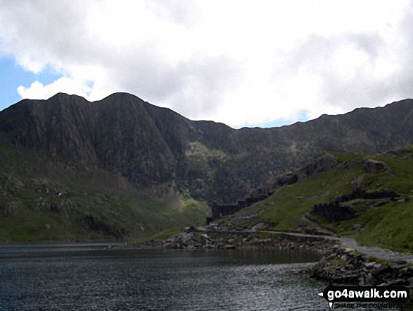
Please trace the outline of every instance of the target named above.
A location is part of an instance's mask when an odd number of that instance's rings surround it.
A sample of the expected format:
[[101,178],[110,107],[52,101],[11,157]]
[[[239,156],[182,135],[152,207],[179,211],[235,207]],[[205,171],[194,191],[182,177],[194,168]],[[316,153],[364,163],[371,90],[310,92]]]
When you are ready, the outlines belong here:
[[409,288],[405,286],[333,286],[330,284],[319,293],[332,308],[393,308],[405,305],[410,298]]

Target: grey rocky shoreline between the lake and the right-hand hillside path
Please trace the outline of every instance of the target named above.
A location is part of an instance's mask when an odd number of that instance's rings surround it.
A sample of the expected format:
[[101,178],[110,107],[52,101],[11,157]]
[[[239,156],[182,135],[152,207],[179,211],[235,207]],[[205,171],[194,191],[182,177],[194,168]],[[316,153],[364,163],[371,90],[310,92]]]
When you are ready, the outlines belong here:
[[303,271],[310,277],[336,284],[361,286],[413,286],[413,264],[406,260],[380,260],[353,248],[337,245],[337,240],[322,236],[294,236],[288,233],[218,231],[187,228],[167,240],[127,243],[124,248],[139,249],[289,249],[308,250],[322,255]]

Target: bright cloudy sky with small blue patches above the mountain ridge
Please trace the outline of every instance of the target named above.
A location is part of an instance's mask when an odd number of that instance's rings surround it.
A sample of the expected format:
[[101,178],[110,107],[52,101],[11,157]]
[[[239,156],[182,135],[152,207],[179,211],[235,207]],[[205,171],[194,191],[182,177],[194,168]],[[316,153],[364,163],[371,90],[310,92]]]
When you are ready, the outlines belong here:
[[0,0],[0,110],[129,92],[271,127],[413,97],[413,0]]

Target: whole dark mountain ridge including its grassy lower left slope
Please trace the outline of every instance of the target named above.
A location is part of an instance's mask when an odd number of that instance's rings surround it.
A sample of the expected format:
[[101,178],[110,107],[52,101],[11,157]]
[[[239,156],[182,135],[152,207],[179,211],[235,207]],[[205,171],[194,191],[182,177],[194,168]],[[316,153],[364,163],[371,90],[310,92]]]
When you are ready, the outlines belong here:
[[[62,93],[24,99],[0,111],[0,209],[15,226],[37,217],[32,238],[37,230],[42,239],[150,236],[201,221],[206,201],[243,199],[319,152],[374,154],[412,144],[412,117],[406,99],[235,130],[126,93],[96,102]],[[50,223],[54,236],[44,229]],[[21,226],[17,239],[25,240]]]

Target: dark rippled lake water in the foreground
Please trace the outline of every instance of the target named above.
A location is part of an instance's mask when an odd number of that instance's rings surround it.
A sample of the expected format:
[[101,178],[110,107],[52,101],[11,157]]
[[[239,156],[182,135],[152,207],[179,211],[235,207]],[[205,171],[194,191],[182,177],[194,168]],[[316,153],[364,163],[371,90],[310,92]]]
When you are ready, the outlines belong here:
[[0,245],[0,310],[329,310],[299,250]]

